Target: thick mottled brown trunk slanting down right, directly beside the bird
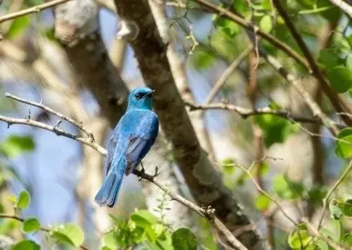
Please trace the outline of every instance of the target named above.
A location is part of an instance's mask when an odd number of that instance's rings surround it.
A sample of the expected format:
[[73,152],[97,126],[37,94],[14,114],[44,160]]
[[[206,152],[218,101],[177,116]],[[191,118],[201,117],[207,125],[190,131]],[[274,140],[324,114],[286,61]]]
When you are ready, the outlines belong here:
[[[140,34],[130,42],[147,85],[156,90],[154,108],[161,127],[171,142],[172,153],[192,195],[200,205],[211,205],[216,215],[231,230],[250,224],[241,205],[223,185],[222,178],[199,144],[189,116],[171,74],[163,45],[146,0],[116,0],[120,18],[135,22]],[[250,249],[264,249],[255,230],[239,239]]]

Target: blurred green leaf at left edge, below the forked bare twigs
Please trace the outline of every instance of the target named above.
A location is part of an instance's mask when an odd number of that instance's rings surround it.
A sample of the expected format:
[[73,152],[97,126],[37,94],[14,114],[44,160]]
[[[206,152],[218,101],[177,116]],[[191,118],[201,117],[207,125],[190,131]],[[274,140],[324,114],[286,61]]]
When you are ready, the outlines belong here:
[[14,158],[22,153],[33,151],[35,147],[31,136],[11,135],[0,145],[0,152],[9,158]]

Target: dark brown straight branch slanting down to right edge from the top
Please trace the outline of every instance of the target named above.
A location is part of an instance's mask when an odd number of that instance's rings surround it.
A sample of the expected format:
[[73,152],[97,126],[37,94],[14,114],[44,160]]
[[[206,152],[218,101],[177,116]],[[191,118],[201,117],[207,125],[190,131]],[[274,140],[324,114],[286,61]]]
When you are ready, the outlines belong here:
[[[302,36],[299,34],[298,30],[295,28],[295,25],[292,22],[290,16],[286,13],[283,5],[281,4],[281,1],[273,0],[273,4],[276,7],[278,13],[285,20],[285,24],[287,25],[291,34],[294,36],[295,42],[301,48],[302,53],[305,55],[305,58],[308,61],[308,64],[312,68],[313,75],[316,76],[316,79],[319,81],[324,93],[329,98],[331,104],[334,105],[337,112],[345,112],[345,111],[349,112],[348,107],[343,104],[343,100],[340,100],[338,95],[336,95],[334,90],[332,90],[330,85],[327,83],[326,78],[320,71],[318,65],[316,65],[316,60],[314,59],[313,55],[310,53],[308,47],[305,45],[305,41],[303,40]],[[352,120],[348,116],[342,116],[342,119],[347,125],[352,125]]]

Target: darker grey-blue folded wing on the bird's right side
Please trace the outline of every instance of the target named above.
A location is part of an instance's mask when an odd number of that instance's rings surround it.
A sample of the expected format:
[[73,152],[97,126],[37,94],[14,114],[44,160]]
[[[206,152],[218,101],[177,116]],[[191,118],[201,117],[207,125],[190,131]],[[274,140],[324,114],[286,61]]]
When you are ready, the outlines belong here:
[[158,135],[158,129],[159,121],[155,114],[150,112],[148,115],[141,115],[135,133],[129,135],[129,145],[126,151],[126,175],[129,175],[150,151],[150,147]]

